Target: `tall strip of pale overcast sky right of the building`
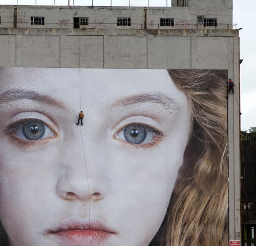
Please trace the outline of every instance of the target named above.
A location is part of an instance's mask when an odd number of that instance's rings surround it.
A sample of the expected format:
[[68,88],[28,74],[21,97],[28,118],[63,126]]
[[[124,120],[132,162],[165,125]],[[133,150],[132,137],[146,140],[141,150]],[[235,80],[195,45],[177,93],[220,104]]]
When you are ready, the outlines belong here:
[[238,23],[236,28],[240,31],[240,66],[241,82],[241,130],[256,127],[256,80],[252,71],[256,59],[256,34],[253,32],[254,0],[233,1],[233,23]]

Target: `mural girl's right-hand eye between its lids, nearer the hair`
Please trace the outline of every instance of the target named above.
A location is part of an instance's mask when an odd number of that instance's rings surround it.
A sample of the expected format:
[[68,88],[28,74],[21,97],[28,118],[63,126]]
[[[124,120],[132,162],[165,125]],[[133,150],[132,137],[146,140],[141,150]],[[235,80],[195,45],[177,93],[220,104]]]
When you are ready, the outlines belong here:
[[150,143],[159,136],[164,136],[159,130],[141,123],[133,123],[125,126],[115,134],[117,139],[133,144]]

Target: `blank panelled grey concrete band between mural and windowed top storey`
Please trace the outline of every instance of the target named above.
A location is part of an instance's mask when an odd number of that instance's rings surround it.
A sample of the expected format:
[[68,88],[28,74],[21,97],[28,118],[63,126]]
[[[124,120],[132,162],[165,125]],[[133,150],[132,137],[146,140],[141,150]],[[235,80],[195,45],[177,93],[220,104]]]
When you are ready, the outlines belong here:
[[[236,30],[0,29],[0,66],[229,69]],[[8,48],[6,48],[7,44]],[[233,76],[231,76],[233,77]]]

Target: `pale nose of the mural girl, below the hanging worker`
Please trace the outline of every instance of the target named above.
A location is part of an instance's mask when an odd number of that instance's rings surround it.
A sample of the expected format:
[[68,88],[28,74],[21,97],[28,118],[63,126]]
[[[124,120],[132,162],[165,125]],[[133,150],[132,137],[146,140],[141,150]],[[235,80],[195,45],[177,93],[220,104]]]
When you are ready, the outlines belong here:
[[92,147],[87,150],[86,147],[78,146],[78,143],[72,144],[66,151],[62,151],[57,181],[58,194],[61,198],[72,201],[103,199],[108,186],[103,171],[105,165],[100,161],[104,158],[99,155],[95,158]]

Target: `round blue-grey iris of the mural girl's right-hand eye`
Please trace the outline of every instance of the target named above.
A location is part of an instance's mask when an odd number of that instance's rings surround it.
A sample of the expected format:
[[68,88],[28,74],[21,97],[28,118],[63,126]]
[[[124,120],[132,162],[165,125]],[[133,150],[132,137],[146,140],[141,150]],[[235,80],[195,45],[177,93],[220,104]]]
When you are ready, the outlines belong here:
[[139,144],[146,138],[146,130],[143,126],[137,124],[126,126],[123,133],[126,141],[130,143]]

